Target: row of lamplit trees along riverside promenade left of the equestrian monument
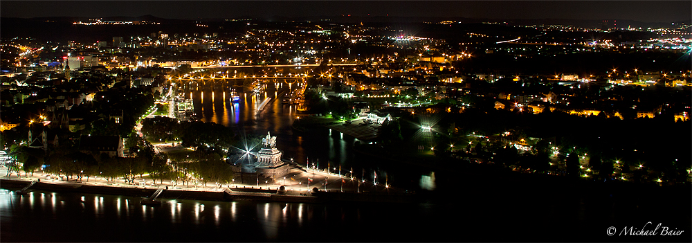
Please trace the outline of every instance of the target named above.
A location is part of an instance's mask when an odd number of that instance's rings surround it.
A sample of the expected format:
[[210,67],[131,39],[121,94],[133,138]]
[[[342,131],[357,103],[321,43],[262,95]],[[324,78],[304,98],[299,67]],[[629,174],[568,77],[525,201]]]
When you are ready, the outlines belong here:
[[54,152],[47,157],[44,164],[30,163],[35,156],[19,149],[17,161],[23,161],[23,170],[28,173],[45,165],[44,172],[66,177],[68,180],[89,181],[93,177],[101,177],[109,181],[122,179],[131,183],[134,179],[149,175],[153,183],[170,180],[174,184],[200,183],[229,183],[233,179],[234,170],[221,155],[217,153],[190,152],[186,154],[154,154],[129,158],[110,157],[98,152]]

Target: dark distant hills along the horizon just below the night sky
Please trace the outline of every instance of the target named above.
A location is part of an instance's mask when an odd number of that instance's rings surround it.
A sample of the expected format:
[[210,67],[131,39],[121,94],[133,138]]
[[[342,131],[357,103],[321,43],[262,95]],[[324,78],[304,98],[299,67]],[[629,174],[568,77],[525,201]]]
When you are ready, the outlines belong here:
[[[83,26],[74,25],[75,21],[88,21],[95,17],[39,17],[31,19],[0,17],[0,29],[2,37],[35,37],[37,39],[64,42],[68,40],[79,40],[84,42],[107,41],[112,37],[128,36],[147,36],[151,33],[163,31],[164,33],[184,35],[185,33],[237,33],[244,32],[247,26],[244,21],[226,21],[226,19],[165,19],[153,15],[143,15],[139,17],[113,16],[102,17],[104,21],[156,21],[159,25],[135,25],[135,26]],[[601,27],[601,19],[581,20],[581,19],[470,19],[463,17],[393,17],[393,16],[313,16],[313,17],[282,17],[273,16],[266,18],[252,18],[249,16],[229,18],[229,19],[252,19],[251,21],[264,24],[291,23],[311,21],[313,23],[364,23],[370,26],[397,26],[404,30],[410,30],[412,34],[430,35],[436,38],[453,38],[462,42],[464,33],[472,31],[474,33],[493,32],[497,35],[508,36],[527,36],[532,35],[533,28],[512,28],[511,26],[533,26],[533,25],[571,25],[585,28]],[[439,21],[455,21],[460,24],[453,26],[439,24]],[[612,19],[611,19],[612,20]],[[208,27],[197,26],[197,21],[207,22]],[[489,26],[480,24],[482,22],[507,22],[508,25]],[[692,21],[681,21],[690,23]],[[630,20],[617,20],[617,25],[621,28],[659,28],[669,27],[671,23],[644,23]],[[628,34],[627,34],[628,35]],[[624,38],[623,39],[628,39]],[[636,39],[633,37],[633,39]],[[126,40],[127,41],[127,40]]]

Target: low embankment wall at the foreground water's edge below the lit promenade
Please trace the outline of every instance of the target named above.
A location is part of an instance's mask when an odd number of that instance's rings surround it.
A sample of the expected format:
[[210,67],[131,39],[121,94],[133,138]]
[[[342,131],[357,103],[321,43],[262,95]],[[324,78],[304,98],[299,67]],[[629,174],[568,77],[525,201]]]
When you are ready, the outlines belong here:
[[[8,190],[20,190],[28,186],[33,180],[29,179],[0,179],[0,188]],[[152,186],[102,186],[90,183],[37,181],[28,190],[45,190],[51,192],[78,192],[89,194],[122,195],[130,197],[149,197],[159,188]],[[277,194],[277,190],[262,188],[167,188],[161,192],[158,198],[163,199],[192,199],[207,201],[275,201],[286,203],[327,203],[327,202],[385,202],[385,203],[409,203],[417,201],[411,194],[404,193],[378,193],[378,192],[339,192],[335,190],[288,190],[284,195]]]

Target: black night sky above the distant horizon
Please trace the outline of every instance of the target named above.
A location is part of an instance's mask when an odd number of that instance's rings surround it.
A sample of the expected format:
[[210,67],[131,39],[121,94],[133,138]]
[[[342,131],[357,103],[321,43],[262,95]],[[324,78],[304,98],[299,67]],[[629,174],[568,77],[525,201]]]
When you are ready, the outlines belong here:
[[169,19],[337,15],[685,21],[692,1],[0,1],[1,17]]

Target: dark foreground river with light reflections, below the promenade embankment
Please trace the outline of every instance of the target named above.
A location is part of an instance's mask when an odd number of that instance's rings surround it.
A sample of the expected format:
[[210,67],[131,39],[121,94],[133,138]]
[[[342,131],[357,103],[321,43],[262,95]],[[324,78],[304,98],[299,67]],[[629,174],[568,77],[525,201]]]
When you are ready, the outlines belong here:
[[[0,189],[0,237],[2,242],[690,240],[689,199],[671,197],[670,191],[644,190],[645,196],[632,197],[544,189],[539,187],[542,192],[537,193],[524,192],[527,188],[521,186],[469,188],[431,195],[430,201],[417,204],[162,199],[161,206],[143,206],[137,197],[45,191],[16,195]],[[650,230],[660,223],[684,233],[606,235],[610,226],[619,232],[647,222],[653,222]]]

